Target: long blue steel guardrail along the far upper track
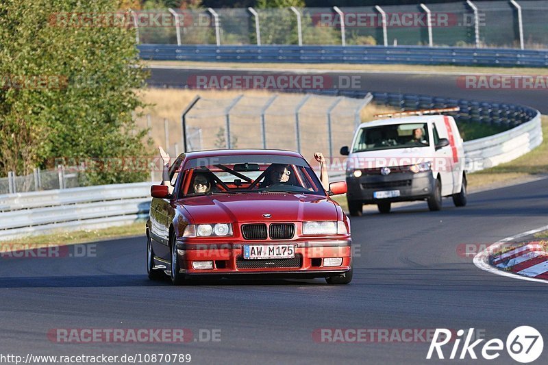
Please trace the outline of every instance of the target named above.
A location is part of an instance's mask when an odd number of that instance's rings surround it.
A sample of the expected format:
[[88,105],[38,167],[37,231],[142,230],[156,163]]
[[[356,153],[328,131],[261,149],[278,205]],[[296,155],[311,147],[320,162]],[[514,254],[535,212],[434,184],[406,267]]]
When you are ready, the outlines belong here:
[[548,66],[547,50],[384,46],[138,45],[143,60]]

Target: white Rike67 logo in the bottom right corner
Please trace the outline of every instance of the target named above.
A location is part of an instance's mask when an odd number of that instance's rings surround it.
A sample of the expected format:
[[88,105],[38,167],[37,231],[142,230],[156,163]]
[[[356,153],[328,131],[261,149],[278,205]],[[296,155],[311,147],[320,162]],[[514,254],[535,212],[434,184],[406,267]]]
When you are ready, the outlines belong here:
[[[435,353],[434,359],[436,358],[436,355],[438,359],[445,359],[447,351],[444,355],[442,347],[449,342],[453,343],[453,348],[449,355],[449,359],[451,360],[463,360],[467,358],[476,360],[476,351],[481,353],[481,356],[485,360],[495,360],[501,355],[501,351],[504,350],[505,342],[499,338],[493,338],[485,342],[483,346],[479,346],[479,344],[485,340],[484,338],[472,342],[474,329],[469,329],[466,335],[465,333],[464,329],[459,329],[456,333],[456,338],[451,338],[451,334],[454,334],[452,331],[445,328],[437,328],[434,332],[434,338],[432,338],[432,342],[430,342],[426,358],[428,360],[432,359],[432,356]],[[464,340],[464,343],[462,344],[462,347],[460,347],[462,340]],[[543,336],[540,335],[540,332],[535,328],[530,326],[516,327],[510,332],[508,338],[506,338],[506,351],[516,362],[521,362],[523,364],[534,362],[538,359],[540,354],[543,353],[543,349]]]

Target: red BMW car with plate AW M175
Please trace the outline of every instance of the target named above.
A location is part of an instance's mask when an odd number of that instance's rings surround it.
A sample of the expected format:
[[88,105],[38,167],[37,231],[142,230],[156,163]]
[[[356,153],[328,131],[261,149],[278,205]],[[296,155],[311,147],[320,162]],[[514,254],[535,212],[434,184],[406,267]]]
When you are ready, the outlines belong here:
[[245,149],[184,153],[151,187],[147,270],[197,277],[352,279],[350,223],[302,155]]

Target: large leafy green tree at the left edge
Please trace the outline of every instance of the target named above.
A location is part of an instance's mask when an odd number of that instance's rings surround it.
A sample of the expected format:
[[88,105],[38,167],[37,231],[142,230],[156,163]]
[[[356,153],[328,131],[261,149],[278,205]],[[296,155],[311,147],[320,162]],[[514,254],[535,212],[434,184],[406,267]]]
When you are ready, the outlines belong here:
[[[114,0],[0,2],[0,175],[27,174],[58,158],[146,155],[146,131],[137,130],[132,118],[142,106],[136,90],[146,77],[134,29],[104,18],[90,21],[119,12],[119,5]],[[90,173],[88,181],[145,177],[145,171],[106,168]]]

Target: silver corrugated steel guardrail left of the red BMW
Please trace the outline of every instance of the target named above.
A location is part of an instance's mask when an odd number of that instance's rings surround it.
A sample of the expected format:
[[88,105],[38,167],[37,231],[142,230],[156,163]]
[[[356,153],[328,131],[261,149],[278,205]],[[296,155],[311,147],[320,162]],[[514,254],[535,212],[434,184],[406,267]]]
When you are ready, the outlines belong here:
[[0,195],[0,240],[147,218],[150,186],[147,182]]

